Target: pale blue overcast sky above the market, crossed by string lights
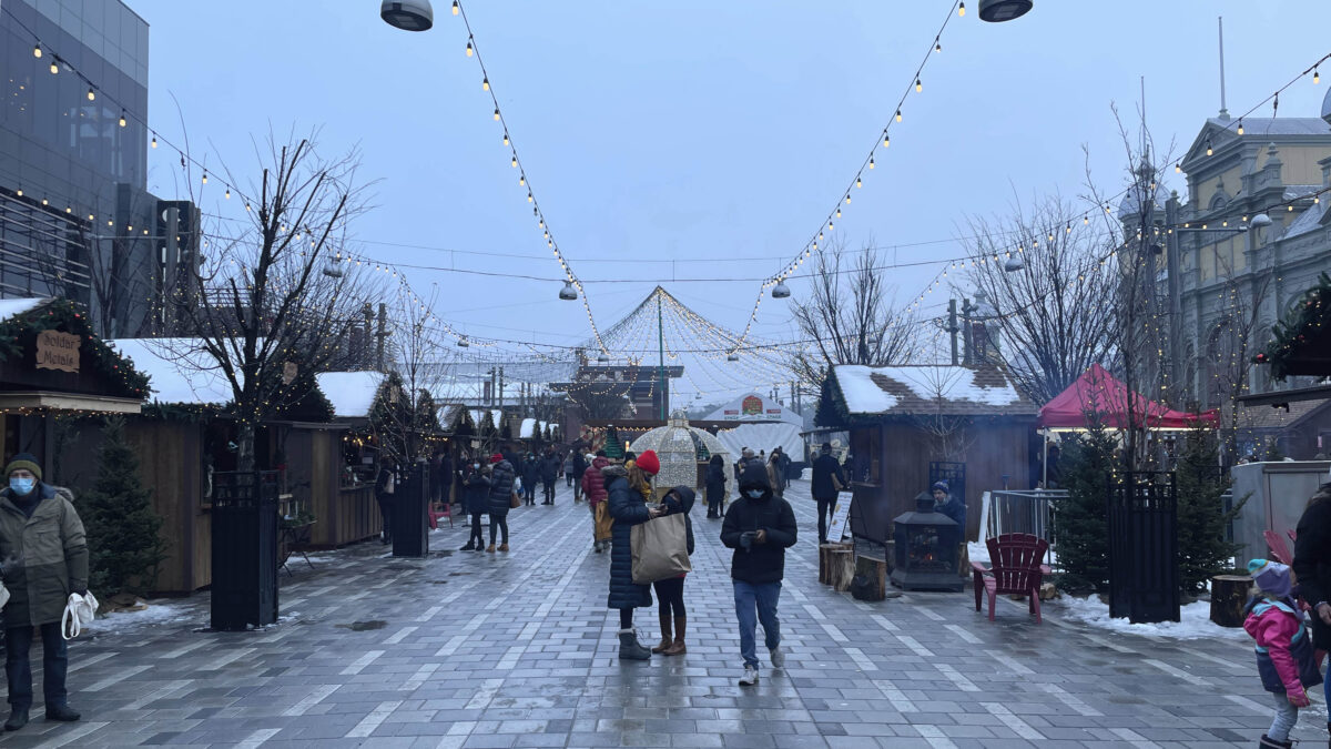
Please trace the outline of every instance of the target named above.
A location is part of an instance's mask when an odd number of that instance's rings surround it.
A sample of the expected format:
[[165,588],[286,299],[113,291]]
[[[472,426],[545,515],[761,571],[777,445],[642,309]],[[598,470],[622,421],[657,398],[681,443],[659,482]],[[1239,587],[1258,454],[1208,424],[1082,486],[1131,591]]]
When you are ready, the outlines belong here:
[[[254,144],[270,131],[318,129],[330,156],[359,148],[374,205],[353,227],[359,255],[438,268],[411,268],[409,283],[434,292],[435,315],[469,336],[546,345],[591,337],[583,305],[556,296],[562,269],[447,0],[434,0],[435,27],[421,33],[381,21],[374,0],[126,3],[150,25],[156,131],[172,141],[188,135],[196,157],[233,172],[254,172]],[[1097,184],[1121,189],[1110,107],[1135,129],[1141,76],[1157,148],[1182,153],[1221,105],[1217,16],[1234,115],[1331,52],[1327,3],[1036,0],[1006,24],[981,21],[978,0],[964,17],[952,7],[463,3],[530,187],[602,329],[658,284],[707,320],[743,329],[761,279],[799,256],[840,204],[904,92],[892,145],[874,152],[876,168],[841,204],[835,239],[917,263],[965,255],[972,219],[1037,196],[1085,195],[1083,148]],[[945,17],[942,51],[930,52]],[[1316,116],[1328,85],[1306,77],[1282,95],[1280,115]],[[150,152],[148,188],[184,193],[177,155]],[[204,211],[234,215],[240,207],[220,193],[202,193]],[[898,301],[942,267],[894,271]],[[757,340],[799,337],[789,305],[805,281],[791,289],[791,300],[759,307]],[[937,315],[945,296],[925,311]],[[677,388],[737,390],[756,377]]]

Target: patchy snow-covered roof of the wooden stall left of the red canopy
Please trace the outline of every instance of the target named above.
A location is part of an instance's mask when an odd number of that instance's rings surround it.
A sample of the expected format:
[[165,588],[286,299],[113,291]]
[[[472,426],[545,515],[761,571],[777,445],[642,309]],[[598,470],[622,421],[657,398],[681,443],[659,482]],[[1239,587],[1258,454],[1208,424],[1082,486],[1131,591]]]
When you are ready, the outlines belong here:
[[864,367],[832,369],[852,414],[908,414],[942,410],[956,414],[1036,414],[1036,406],[993,368]]

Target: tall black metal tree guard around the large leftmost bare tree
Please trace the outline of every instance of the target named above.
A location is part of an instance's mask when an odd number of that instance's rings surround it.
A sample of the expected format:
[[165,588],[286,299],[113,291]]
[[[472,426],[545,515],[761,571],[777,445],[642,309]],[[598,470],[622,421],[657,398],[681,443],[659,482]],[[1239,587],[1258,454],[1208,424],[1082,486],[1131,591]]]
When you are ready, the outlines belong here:
[[213,629],[277,621],[276,470],[213,473]]

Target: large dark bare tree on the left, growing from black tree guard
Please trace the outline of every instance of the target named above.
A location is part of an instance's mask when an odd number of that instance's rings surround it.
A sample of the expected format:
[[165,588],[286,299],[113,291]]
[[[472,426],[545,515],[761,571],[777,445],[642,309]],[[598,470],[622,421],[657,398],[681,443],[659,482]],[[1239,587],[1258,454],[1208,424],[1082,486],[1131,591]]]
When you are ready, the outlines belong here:
[[294,374],[326,369],[357,324],[359,295],[373,296],[341,247],[365,208],[353,184],[357,152],[325,159],[310,140],[270,136],[258,160],[249,223],[212,237],[208,268],[196,269],[200,295],[173,300],[194,337],[165,344],[182,365],[230,385],[240,470],[254,468],[256,426],[305,394],[311,378]]

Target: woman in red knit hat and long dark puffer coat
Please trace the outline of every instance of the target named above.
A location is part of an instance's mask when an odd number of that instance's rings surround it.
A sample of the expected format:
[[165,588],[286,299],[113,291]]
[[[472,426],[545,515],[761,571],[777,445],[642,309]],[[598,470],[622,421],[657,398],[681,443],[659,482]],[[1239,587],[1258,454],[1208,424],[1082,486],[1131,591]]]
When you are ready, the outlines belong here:
[[607,465],[606,494],[610,516],[615,525],[614,542],[610,554],[610,594],[606,608],[619,609],[619,657],[622,660],[646,661],[652,652],[638,638],[634,629],[634,609],[652,605],[651,585],[634,582],[634,550],[631,548],[632,526],[658,517],[660,509],[647,509],[647,497],[652,493],[651,478],[660,470],[660,461],[652,450],[639,456],[631,468]]

